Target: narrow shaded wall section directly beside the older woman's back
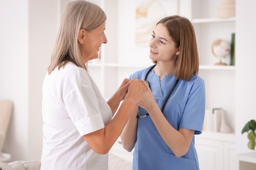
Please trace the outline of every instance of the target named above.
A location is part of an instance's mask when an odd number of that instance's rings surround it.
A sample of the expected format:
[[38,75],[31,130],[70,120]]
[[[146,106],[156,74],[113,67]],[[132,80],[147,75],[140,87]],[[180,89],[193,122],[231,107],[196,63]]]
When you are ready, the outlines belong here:
[[58,31],[58,1],[29,0],[28,159],[41,157],[41,87]]

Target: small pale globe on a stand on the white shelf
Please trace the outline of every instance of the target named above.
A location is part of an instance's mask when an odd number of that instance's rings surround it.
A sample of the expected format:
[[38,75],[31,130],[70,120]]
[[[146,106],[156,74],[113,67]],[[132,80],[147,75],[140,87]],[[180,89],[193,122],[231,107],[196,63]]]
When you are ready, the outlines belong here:
[[213,55],[219,59],[219,63],[215,63],[215,65],[226,65],[226,63],[222,62],[222,59],[230,54],[231,45],[224,39],[217,39],[213,41],[211,51],[213,52]]

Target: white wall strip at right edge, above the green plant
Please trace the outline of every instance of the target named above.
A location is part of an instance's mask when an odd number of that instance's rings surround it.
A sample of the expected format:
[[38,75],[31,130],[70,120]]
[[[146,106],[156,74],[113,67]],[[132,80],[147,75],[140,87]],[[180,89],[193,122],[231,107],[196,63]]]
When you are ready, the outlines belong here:
[[245,123],[256,119],[256,1],[236,0],[236,139],[238,152],[249,152]]

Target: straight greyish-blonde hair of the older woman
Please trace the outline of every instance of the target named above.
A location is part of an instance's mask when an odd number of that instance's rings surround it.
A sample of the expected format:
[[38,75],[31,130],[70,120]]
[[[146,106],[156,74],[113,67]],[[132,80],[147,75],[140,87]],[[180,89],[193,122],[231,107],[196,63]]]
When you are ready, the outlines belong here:
[[87,69],[77,41],[79,30],[91,31],[105,21],[106,14],[98,5],[83,0],[69,3],[62,16],[48,74],[56,67],[64,67],[68,61]]

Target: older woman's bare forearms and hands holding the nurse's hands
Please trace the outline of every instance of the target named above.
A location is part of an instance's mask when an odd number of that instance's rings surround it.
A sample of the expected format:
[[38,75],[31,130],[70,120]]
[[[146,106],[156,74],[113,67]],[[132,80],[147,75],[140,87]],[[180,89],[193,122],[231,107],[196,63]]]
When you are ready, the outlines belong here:
[[112,112],[115,112],[117,104],[125,98],[114,118],[104,128],[84,135],[85,140],[95,152],[106,154],[110,150],[120,136],[121,131],[123,131],[129,118],[137,112],[138,103],[146,92],[146,88],[148,88],[146,82],[142,82],[136,78],[129,83],[127,83],[127,81],[123,82],[121,88],[119,88],[114,96],[108,101],[110,107],[112,107]]

